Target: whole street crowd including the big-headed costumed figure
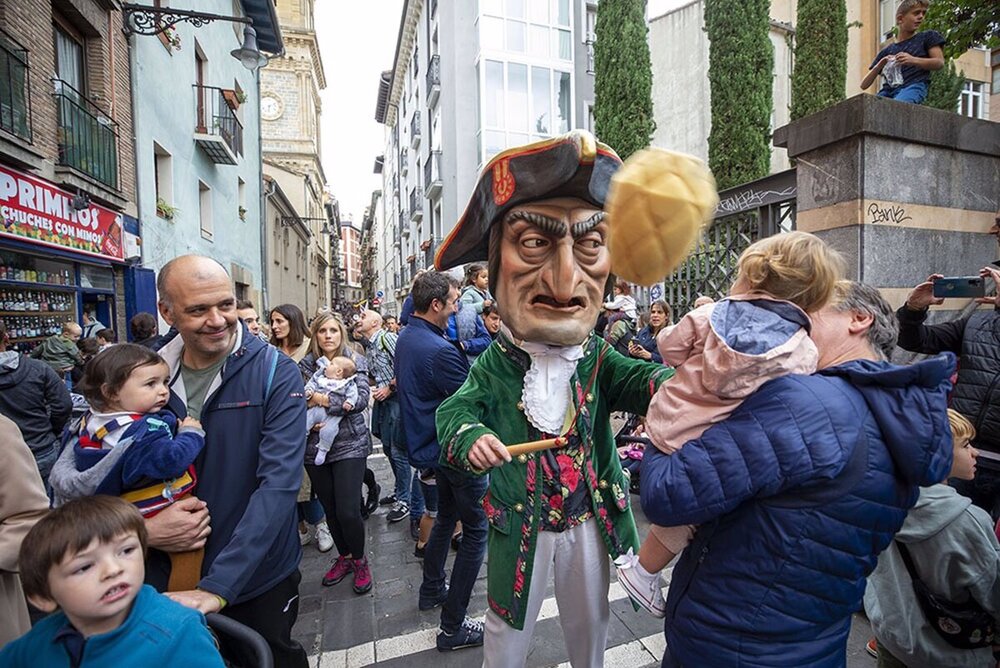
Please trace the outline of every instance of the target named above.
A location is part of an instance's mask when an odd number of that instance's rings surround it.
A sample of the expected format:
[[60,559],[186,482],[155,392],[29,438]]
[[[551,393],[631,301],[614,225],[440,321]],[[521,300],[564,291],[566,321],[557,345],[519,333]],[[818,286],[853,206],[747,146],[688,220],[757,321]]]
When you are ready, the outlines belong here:
[[304,668],[303,546],[371,592],[379,505],[409,521],[437,649],[489,667],[526,664],[550,581],[570,663],[603,665],[612,572],[667,667],[842,666],[860,610],[880,666],[997,665],[1000,298],[926,324],[940,275],[894,312],[790,232],[675,318],[610,280],[613,151],[575,132],[499,159],[539,178],[501,192],[488,165],[438,256],[463,279],[420,273],[398,318],[261,317],[188,255],[157,278],[162,336],[88,315],[23,355],[0,322],[0,666],[255,665],[220,613]]

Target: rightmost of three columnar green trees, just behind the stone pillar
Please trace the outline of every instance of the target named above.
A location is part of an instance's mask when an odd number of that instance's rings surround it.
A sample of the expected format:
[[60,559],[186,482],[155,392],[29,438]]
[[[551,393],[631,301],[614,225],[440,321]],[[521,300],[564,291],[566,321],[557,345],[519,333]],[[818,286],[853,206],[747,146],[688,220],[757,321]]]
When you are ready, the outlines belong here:
[[844,0],[799,0],[792,70],[791,118],[815,114],[844,99],[847,6]]

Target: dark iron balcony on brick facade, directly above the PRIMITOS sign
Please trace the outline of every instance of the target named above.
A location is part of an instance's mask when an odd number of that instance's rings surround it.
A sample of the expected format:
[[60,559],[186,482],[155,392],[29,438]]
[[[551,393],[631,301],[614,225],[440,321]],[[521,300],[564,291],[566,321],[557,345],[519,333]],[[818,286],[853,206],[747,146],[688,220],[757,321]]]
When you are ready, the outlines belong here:
[[118,124],[65,81],[54,83],[59,164],[118,190]]

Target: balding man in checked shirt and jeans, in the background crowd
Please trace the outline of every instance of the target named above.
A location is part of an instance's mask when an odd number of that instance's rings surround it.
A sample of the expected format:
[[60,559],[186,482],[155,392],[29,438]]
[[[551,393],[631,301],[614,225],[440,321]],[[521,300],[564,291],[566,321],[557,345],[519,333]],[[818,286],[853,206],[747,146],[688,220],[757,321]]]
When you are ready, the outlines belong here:
[[[368,370],[375,379],[372,389],[372,433],[382,441],[382,449],[392,463],[395,488],[384,505],[392,504],[386,520],[390,523],[410,518],[410,533],[418,535],[420,517],[423,515],[423,495],[415,480],[403,441],[399,422],[399,397],[396,395],[396,334],[383,328],[382,316],[377,311],[364,311],[354,327],[354,335],[364,344]],[[411,507],[411,502],[413,507]]]

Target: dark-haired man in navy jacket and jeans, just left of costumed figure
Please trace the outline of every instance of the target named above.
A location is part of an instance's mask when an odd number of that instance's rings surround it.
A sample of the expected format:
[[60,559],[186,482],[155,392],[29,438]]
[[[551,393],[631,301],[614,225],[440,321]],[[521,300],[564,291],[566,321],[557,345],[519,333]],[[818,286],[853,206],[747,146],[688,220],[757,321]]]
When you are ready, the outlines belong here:
[[[424,580],[420,585],[421,610],[444,604],[437,648],[441,651],[483,644],[483,623],[465,616],[486,552],[486,513],[480,500],[486,493],[486,476],[438,468],[441,445],[434,413],[455,393],[469,375],[465,356],[445,339],[448,318],[458,307],[458,283],[446,274],[428,271],[413,281],[413,315],[396,342],[396,388],[406,430],[410,463],[421,471],[434,470],[437,487],[437,520],[424,554]],[[428,510],[433,496],[424,488]],[[444,564],[455,522],[462,521],[462,543],[445,583]]]

